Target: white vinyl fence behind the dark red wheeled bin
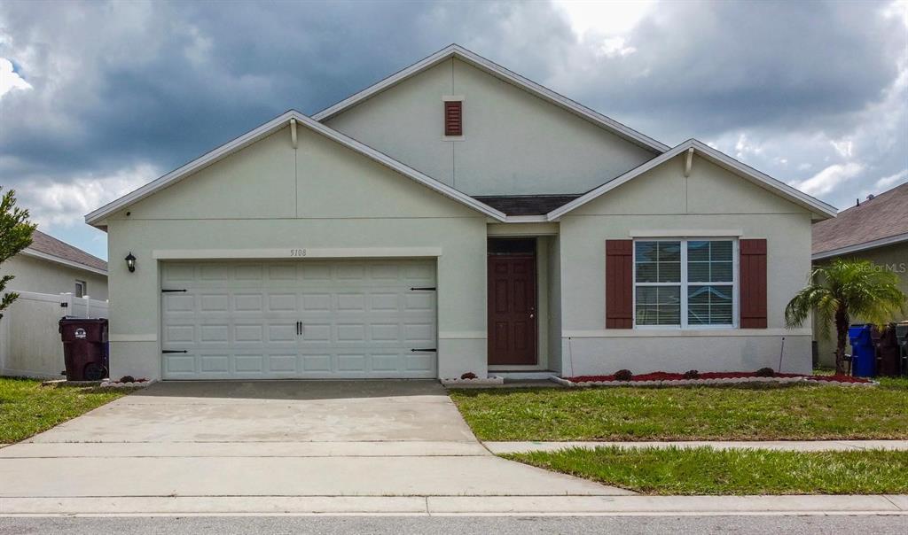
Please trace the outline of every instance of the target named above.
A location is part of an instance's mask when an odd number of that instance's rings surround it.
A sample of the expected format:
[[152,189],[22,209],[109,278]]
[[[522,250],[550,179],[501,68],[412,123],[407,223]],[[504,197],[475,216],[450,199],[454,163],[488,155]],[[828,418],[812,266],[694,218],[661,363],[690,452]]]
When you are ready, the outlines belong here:
[[17,293],[19,298],[0,319],[0,375],[62,377],[63,342],[57,322],[63,316],[107,317],[107,301],[73,294]]

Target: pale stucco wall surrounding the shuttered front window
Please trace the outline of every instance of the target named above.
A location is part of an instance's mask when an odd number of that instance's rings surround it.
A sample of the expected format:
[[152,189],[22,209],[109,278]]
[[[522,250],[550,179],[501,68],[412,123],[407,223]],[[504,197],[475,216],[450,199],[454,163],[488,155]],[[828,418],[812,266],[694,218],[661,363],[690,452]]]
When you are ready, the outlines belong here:
[[[806,210],[699,157],[685,178],[684,156],[570,212],[560,225],[565,374],[775,368],[783,336],[783,370],[809,371],[809,326],[786,330],[784,309],[810,268],[810,220]],[[666,231],[766,238],[768,328],[606,330],[605,240]]]

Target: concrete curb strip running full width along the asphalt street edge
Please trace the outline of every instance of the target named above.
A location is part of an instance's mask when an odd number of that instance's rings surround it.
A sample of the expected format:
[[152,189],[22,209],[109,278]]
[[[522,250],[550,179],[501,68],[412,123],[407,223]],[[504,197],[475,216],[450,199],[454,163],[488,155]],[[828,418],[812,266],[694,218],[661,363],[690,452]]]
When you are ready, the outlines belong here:
[[146,496],[0,498],[19,515],[908,515],[908,496]]

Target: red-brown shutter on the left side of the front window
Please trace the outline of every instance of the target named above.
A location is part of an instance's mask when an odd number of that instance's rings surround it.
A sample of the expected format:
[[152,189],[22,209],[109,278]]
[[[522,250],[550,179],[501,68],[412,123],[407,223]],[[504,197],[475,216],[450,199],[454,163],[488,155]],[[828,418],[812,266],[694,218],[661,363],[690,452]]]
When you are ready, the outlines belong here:
[[606,328],[634,326],[634,240],[606,240]]

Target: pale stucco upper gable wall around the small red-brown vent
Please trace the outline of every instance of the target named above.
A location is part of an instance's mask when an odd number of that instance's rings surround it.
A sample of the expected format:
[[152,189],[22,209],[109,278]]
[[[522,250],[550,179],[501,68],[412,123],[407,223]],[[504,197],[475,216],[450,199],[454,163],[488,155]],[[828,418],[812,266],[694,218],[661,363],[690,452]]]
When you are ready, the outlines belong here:
[[[459,141],[446,95],[464,98]],[[655,156],[454,58],[326,123],[470,195],[581,193]]]

